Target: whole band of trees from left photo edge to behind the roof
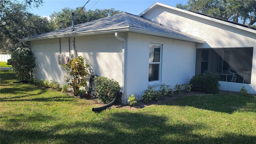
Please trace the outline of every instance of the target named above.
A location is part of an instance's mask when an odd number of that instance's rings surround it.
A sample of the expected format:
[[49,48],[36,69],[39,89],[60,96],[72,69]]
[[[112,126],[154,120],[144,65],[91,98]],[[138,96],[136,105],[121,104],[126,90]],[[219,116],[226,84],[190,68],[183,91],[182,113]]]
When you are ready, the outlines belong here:
[[9,54],[18,47],[25,47],[19,39],[72,26],[72,12],[77,14],[75,24],[120,13],[114,8],[88,11],[82,7],[63,8],[61,12],[53,12],[49,21],[28,12],[28,9],[38,8],[42,4],[43,0],[0,0],[0,54]]

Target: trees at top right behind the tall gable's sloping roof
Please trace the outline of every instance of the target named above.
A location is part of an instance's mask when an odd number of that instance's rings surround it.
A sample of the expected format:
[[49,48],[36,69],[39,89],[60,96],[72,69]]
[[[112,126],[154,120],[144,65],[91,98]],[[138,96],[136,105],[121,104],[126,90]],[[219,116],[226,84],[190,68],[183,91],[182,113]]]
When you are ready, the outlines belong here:
[[188,0],[176,7],[250,26],[256,23],[256,0]]

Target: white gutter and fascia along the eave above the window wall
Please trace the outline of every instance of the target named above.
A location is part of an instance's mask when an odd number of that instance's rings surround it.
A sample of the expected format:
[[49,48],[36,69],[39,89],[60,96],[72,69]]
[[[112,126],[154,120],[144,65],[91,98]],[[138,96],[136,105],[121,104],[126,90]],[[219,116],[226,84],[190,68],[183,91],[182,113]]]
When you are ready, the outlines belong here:
[[197,42],[197,43],[201,43],[203,44],[205,41],[200,39],[200,38],[185,38],[182,36],[174,36],[171,34],[164,34],[161,32],[152,32],[150,30],[142,30],[139,28],[134,28],[134,27],[130,27],[129,28],[129,32],[136,32],[136,33],[140,33],[140,34],[147,34],[147,35],[151,35],[151,36],[159,36],[159,37],[164,37],[164,38],[171,38],[171,39],[176,39],[176,40],[184,40],[184,41],[189,41],[189,42]]

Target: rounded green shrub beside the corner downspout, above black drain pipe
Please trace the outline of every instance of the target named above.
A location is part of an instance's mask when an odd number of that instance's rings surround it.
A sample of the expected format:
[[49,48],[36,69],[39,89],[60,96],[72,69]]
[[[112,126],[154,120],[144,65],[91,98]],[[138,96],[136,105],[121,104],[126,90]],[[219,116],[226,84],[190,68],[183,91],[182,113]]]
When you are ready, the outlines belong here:
[[121,90],[121,87],[116,80],[104,76],[96,76],[94,82],[96,83],[96,86],[94,87],[95,95],[105,104],[110,103]]

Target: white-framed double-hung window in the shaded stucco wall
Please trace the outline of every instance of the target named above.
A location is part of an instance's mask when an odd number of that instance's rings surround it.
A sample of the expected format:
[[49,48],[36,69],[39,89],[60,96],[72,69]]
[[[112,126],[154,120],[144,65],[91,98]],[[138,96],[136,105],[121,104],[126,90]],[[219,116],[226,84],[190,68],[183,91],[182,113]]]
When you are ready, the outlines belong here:
[[160,81],[161,68],[161,45],[150,44],[149,46],[149,71],[148,81]]

